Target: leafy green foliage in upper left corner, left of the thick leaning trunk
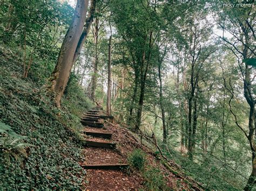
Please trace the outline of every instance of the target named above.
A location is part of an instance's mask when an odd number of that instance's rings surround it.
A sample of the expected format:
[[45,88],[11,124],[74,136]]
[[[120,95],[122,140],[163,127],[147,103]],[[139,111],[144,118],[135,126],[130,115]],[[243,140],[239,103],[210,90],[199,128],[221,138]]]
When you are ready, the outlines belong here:
[[70,5],[56,0],[1,3],[0,38],[29,69],[28,74],[34,81],[44,84],[49,77],[57,62],[60,37],[72,14]]

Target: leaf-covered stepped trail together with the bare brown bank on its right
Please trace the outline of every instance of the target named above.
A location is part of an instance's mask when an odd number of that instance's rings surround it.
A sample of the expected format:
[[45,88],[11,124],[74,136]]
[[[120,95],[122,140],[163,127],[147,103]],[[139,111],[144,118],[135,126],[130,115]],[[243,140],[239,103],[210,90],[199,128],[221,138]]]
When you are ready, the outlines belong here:
[[80,165],[86,169],[86,180],[89,181],[84,185],[86,190],[143,189],[145,177],[130,168],[127,162],[129,154],[137,148],[147,153],[149,164],[161,170],[167,187],[178,190],[190,188],[186,180],[161,164],[149,147],[141,145],[129,131],[111,122],[113,116],[106,116],[101,107],[87,111],[81,119],[84,125],[81,133],[85,138],[85,161],[80,162]]

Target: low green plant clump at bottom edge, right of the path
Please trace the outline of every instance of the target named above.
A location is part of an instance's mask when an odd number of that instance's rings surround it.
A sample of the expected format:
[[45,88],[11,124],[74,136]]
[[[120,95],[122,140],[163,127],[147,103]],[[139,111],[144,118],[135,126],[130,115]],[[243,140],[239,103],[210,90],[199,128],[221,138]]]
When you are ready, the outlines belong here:
[[144,178],[147,190],[165,190],[167,188],[164,176],[158,168],[150,168],[145,171]]

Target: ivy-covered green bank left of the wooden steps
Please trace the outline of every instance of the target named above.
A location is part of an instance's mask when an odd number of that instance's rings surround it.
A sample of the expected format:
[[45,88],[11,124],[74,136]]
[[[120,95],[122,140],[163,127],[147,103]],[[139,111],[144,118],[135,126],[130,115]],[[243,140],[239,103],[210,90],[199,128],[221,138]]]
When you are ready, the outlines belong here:
[[21,60],[0,51],[0,188],[79,189],[85,175],[79,115],[91,103],[71,77],[56,108],[36,76],[22,78]]

